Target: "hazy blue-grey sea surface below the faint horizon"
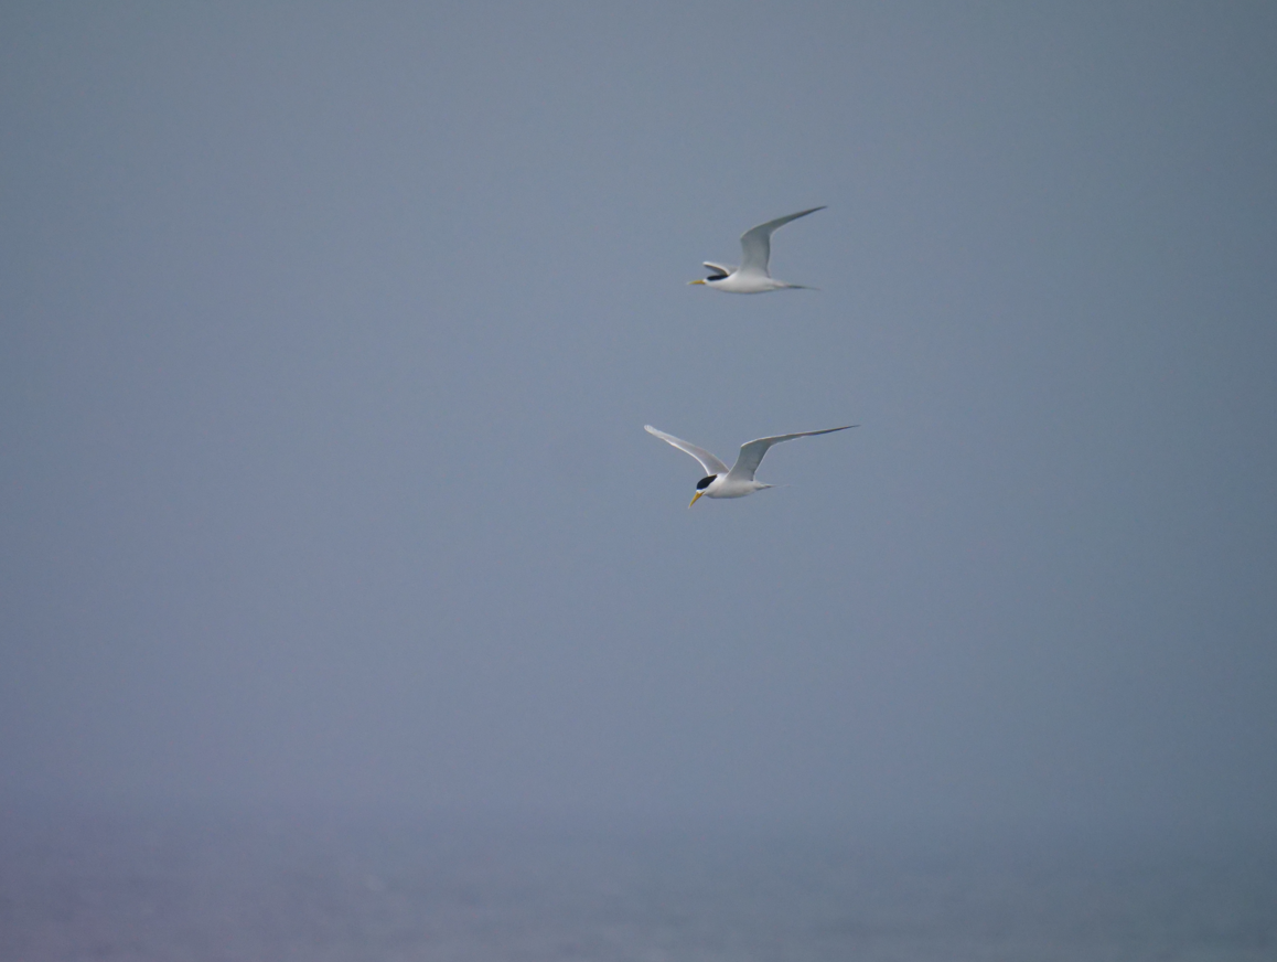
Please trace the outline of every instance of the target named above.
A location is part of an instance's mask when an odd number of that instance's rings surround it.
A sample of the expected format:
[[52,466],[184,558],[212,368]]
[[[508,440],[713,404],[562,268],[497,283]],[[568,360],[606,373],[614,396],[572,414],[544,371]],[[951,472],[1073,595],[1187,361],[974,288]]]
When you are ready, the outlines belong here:
[[1078,833],[0,810],[0,959],[1277,959],[1277,857]]

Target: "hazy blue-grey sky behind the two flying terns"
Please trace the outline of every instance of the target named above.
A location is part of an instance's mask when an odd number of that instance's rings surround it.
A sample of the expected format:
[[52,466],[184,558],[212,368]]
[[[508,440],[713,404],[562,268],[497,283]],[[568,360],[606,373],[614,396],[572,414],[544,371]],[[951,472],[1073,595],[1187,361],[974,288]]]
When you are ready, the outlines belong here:
[[0,795],[1273,830],[1277,9],[607,6],[5,5]]

